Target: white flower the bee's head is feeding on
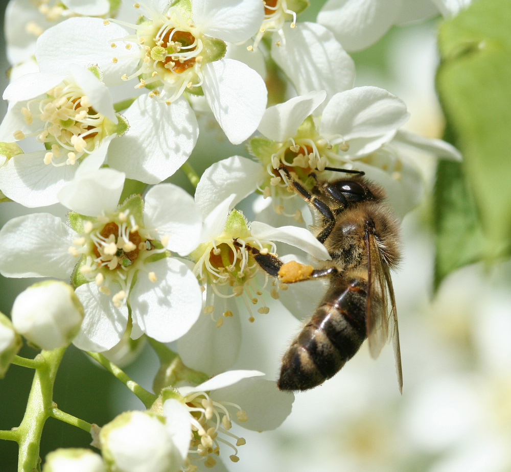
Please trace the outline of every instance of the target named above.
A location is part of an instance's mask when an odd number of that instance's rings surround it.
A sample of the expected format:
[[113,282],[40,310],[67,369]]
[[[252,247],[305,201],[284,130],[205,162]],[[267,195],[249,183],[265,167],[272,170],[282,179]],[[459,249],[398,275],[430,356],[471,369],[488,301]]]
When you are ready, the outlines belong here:
[[[353,169],[382,184],[394,210],[403,216],[419,201],[423,187],[420,171],[406,159],[403,147],[460,158],[444,141],[399,130],[409,114],[406,105],[387,90],[356,87],[336,93],[323,108],[325,97],[326,92],[313,91],[267,108],[258,127],[264,136],[250,140],[250,150],[260,159],[266,178],[252,170],[253,163],[243,163],[246,168],[238,171],[238,178],[244,182],[245,195],[258,188],[265,198],[272,197],[277,213],[299,221],[296,204],[289,203],[287,182],[278,173],[282,164],[306,184],[312,171],[321,178],[338,178],[339,174],[324,169]],[[217,184],[226,179],[218,169]]]

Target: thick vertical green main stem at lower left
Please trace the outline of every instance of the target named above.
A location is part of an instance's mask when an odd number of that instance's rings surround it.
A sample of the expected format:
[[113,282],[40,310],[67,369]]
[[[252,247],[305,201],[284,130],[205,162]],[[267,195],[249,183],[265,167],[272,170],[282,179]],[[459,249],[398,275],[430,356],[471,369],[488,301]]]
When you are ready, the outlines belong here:
[[39,470],[39,443],[45,421],[53,409],[53,386],[55,376],[64,355],[65,347],[53,351],[41,351],[25,415],[16,429],[18,434],[18,472]]

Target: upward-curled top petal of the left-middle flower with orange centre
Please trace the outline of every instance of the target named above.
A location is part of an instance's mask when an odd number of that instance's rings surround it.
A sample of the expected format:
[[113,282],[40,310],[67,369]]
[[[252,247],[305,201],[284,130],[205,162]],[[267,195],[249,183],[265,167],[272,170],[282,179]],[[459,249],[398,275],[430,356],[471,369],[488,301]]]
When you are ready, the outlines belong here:
[[113,211],[123,191],[124,174],[113,169],[73,180],[59,192],[59,201],[81,215],[97,217],[103,210]]

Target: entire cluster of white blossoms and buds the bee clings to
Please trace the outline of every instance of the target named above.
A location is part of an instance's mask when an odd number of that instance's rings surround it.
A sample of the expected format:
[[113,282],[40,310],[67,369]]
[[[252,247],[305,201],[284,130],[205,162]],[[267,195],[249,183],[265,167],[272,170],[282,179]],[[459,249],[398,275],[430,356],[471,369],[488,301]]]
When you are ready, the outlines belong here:
[[[460,158],[444,141],[402,129],[409,113],[398,97],[354,87],[346,51],[393,24],[455,14],[468,2],[329,0],[317,22],[300,22],[308,3],[10,2],[0,201],[60,203],[69,213],[8,221],[0,273],[71,285],[42,282],[20,294],[12,325],[0,319],[2,365],[19,335],[43,349],[73,342],[91,352],[146,336],[177,341],[184,365],[209,379],[165,385],[149,411],[102,428],[102,456],[58,450],[45,472],[224,470],[220,450],[237,462],[245,440],[230,431],[233,422],[274,429],[293,402],[262,372],[228,370],[241,317],[268,313],[269,298],[295,306],[307,297],[286,296],[249,248],[276,253],[286,243],[330,259],[278,169],[304,181],[311,172],[333,178],[327,167],[364,171],[402,217],[424,195],[410,150]],[[204,117],[252,157],[226,155],[199,178],[187,160]],[[164,182],[178,170],[194,197]],[[145,190],[129,193],[133,181]],[[249,196],[251,222],[236,208]]]

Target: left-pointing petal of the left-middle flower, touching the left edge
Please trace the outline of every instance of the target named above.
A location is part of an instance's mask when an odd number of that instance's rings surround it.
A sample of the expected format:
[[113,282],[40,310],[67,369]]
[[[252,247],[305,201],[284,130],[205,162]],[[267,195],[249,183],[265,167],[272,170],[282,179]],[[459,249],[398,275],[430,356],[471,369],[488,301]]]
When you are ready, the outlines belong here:
[[49,213],[13,218],[0,230],[0,272],[69,280],[78,262],[67,250],[74,238],[75,231]]

